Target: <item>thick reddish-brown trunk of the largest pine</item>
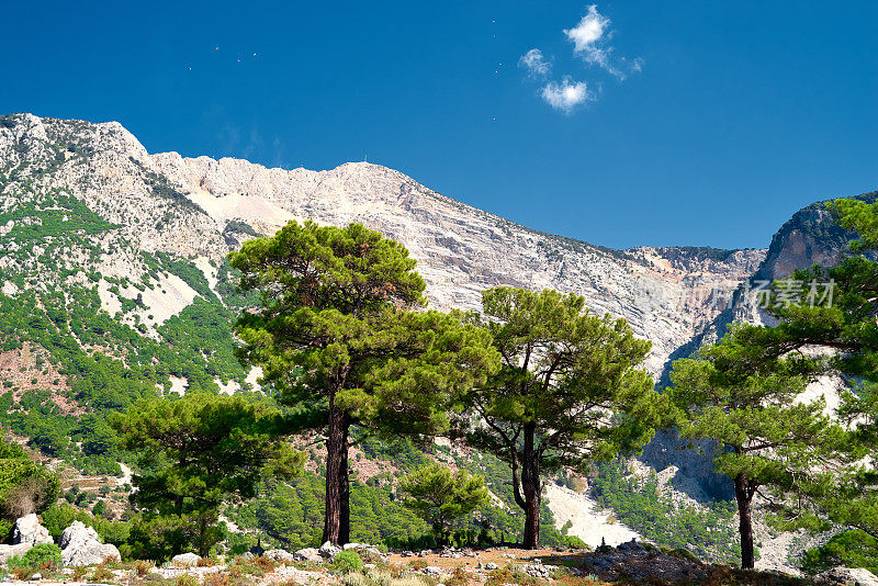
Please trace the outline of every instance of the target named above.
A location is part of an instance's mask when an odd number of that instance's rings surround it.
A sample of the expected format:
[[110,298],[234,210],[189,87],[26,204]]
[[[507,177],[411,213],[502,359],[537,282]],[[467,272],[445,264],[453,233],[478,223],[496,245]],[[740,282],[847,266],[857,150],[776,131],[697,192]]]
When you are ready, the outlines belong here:
[[348,483],[348,428],[350,422],[329,397],[326,437],[326,517],[323,542],[344,545],[350,539],[350,485]]

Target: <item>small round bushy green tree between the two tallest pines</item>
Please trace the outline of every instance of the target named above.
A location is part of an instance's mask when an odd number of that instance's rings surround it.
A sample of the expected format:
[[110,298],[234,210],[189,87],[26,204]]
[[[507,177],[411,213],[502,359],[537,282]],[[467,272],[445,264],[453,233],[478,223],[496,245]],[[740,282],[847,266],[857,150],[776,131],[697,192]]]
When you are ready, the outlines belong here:
[[465,470],[452,473],[441,464],[427,464],[399,481],[405,506],[434,527],[440,543],[448,542],[450,523],[488,504],[482,476]]

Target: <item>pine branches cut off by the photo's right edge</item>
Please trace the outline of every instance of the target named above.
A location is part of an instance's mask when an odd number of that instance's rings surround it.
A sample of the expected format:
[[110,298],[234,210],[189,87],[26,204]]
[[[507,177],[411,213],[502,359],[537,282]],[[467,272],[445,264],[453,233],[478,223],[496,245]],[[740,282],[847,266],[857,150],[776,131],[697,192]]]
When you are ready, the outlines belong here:
[[818,483],[802,496],[831,520],[878,537],[878,262],[871,260],[878,249],[878,202],[840,199],[830,210],[842,227],[858,234],[852,253],[836,267],[796,271],[789,281],[802,303],[770,303],[778,324],[758,336],[776,354],[814,347],[829,351],[824,372],[841,375],[848,386],[837,412],[849,427],[838,453],[847,465],[833,482]]

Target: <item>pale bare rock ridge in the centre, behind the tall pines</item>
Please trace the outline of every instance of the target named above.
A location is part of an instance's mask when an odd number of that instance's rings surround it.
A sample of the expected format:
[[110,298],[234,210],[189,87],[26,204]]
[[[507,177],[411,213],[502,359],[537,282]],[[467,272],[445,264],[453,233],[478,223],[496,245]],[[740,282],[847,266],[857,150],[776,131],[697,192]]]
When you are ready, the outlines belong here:
[[697,298],[691,285],[703,282],[709,294],[713,283],[752,274],[764,257],[763,250],[597,247],[528,229],[376,165],[317,172],[176,153],[151,160],[217,224],[243,221],[270,234],[289,219],[360,222],[402,241],[441,309],[477,308],[481,291],[497,285],[576,292],[593,311],[626,317],[653,340],[654,372],[721,309],[716,300]]

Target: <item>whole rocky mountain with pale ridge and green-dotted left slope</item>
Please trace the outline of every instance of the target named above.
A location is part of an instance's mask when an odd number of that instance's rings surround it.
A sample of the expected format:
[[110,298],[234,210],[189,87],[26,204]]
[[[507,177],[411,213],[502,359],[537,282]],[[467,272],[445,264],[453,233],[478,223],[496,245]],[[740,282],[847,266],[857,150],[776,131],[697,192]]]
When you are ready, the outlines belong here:
[[[767,249],[615,250],[515,224],[378,165],[268,169],[149,154],[114,122],[0,116],[0,425],[83,473],[120,474],[108,412],[162,393],[251,387],[257,373],[239,364],[232,337],[246,300],[225,257],[290,219],[360,222],[401,241],[439,309],[479,308],[480,292],[496,285],[583,295],[653,341],[656,381],[731,322],[765,319],[743,282],[833,263],[856,236],[814,203]],[[721,494],[709,464],[673,444],[660,437],[643,462],[668,477],[678,469],[674,486],[693,495]]]

